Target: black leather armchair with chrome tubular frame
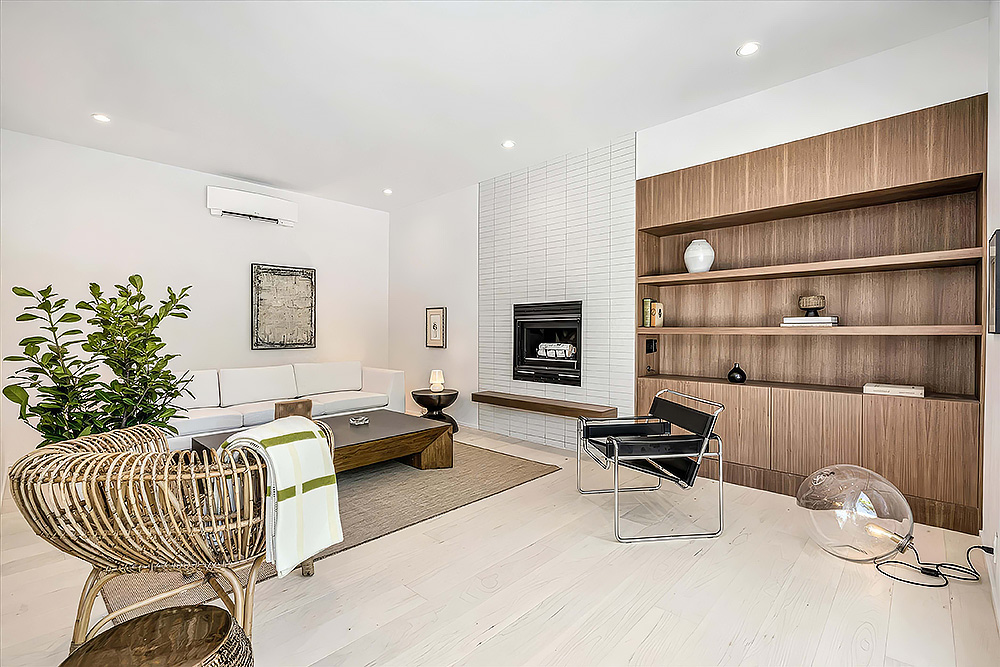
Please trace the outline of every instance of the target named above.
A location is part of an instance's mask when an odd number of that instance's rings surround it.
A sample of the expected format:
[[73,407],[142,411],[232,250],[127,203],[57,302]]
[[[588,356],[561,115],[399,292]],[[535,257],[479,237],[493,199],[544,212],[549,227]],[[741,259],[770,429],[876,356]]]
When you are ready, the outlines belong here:
[[[608,422],[608,423],[614,423],[614,422],[620,422],[620,423],[622,423],[622,422],[623,423],[628,423],[628,422],[638,423],[638,422],[646,421],[646,420],[657,420],[657,421],[661,421],[661,422],[663,421],[663,420],[660,420],[659,418],[657,418],[657,417],[655,417],[653,415],[646,415],[646,416],[642,416],[642,417],[619,417],[619,418],[614,419],[614,420],[610,420],[610,419],[609,420],[587,420],[586,418],[582,418],[581,417],[580,418],[580,422],[579,422],[579,424],[577,426],[577,473],[576,473],[577,474],[577,490],[580,493],[583,493],[583,494],[590,494],[590,493],[613,493],[614,494],[614,531],[615,531],[615,539],[617,539],[619,542],[625,542],[625,543],[630,543],[630,542],[654,542],[654,541],[665,541],[665,540],[712,538],[712,537],[718,537],[719,535],[721,535],[723,529],[725,528],[725,496],[724,496],[724,487],[725,487],[725,484],[723,483],[723,472],[722,472],[722,469],[723,469],[722,438],[717,433],[715,433],[715,431],[714,431],[715,423],[718,421],[719,414],[725,409],[725,407],[721,403],[716,403],[715,401],[709,401],[709,400],[706,400],[706,399],[703,399],[703,398],[699,398],[697,396],[691,396],[691,395],[688,395],[688,394],[683,394],[681,392],[674,391],[672,389],[664,389],[664,390],[662,390],[660,392],[657,392],[656,398],[660,398],[664,394],[672,394],[674,396],[678,396],[678,397],[681,397],[681,398],[686,398],[688,400],[695,401],[697,403],[702,403],[702,404],[705,404],[705,405],[710,405],[710,406],[712,406],[712,407],[715,408],[711,412],[711,414],[710,414],[709,426],[706,429],[705,434],[703,435],[701,446],[700,446],[700,448],[699,448],[699,450],[698,450],[697,453],[694,453],[694,452],[672,453],[672,454],[668,454],[668,453],[664,453],[664,454],[643,453],[641,455],[625,455],[625,456],[623,456],[623,455],[621,455],[621,453],[619,451],[620,450],[620,446],[621,446],[621,441],[619,440],[619,438],[617,438],[615,436],[609,436],[608,439],[607,439],[607,443],[608,443],[608,445],[609,445],[609,447],[611,449],[611,452],[610,452],[611,456],[607,456],[603,452],[601,452],[601,451],[597,450],[595,447],[591,446],[590,443],[587,441],[587,438],[584,437],[585,433],[586,433],[586,426],[594,424],[594,423],[602,423],[602,422]],[[712,451],[709,450],[709,443],[711,441],[713,441],[713,440],[716,442],[716,451],[715,452],[712,452]],[[581,455],[582,451],[586,451],[587,454],[595,462],[597,462],[598,465],[600,465],[605,470],[607,470],[608,468],[612,469],[613,484],[612,484],[612,487],[610,489],[585,490],[583,488],[582,482],[581,482],[581,470],[580,470],[581,469],[581,463],[582,463],[582,455]],[[719,466],[719,477],[718,477],[718,482],[719,482],[719,527],[718,527],[718,529],[716,529],[714,531],[694,532],[694,533],[667,533],[667,534],[660,534],[660,535],[623,535],[622,534],[622,530],[621,530],[621,502],[620,502],[620,494],[624,493],[624,492],[627,492],[627,491],[653,491],[653,490],[656,490],[656,489],[658,489],[660,487],[660,481],[662,481],[662,479],[664,479],[664,478],[670,479],[670,481],[673,481],[675,484],[677,484],[681,488],[690,488],[689,485],[687,483],[685,483],[684,480],[678,479],[670,471],[668,471],[668,470],[664,469],[663,467],[661,467],[660,465],[658,465],[656,463],[656,461],[657,460],[661,460],[661,459],[679,459],[679,458],[689,458],[690,459],[693,456],[696,456],[696,461],[695,462],[696,462],[696,466],[697,466],[698,469],[701,468],[701,464],[704,461],[704,459],[715,459],[715,460],[718,461],[718,466]],[[663,477],[658,477],[657,484],[656,484],[655,487],[624,487],[623,488],[621,486],[620,477],[619,477],[619,469],[621,467],[621,463],[622,462],[628,462],[628,461],[640,461],[640,460],[647,462],[654,469],[658,469],[659,471],[661,471],[663,473]]]

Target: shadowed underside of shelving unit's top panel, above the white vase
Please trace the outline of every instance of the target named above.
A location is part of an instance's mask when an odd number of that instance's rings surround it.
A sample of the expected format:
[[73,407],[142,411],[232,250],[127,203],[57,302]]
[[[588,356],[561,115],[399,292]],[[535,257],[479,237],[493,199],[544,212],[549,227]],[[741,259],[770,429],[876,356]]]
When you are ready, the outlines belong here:
[[640,227],[639,231],[646,232],[647,234],[652,234],[654,236],[670,236],[672,234],[685,234],[687,232],[719,229],[721,227],[749,225],[755,222],[766,222],[769,220],[798,218],[804,215],[816,215],[819,213],[830,213],[831,211],[843,211],[852,208],[862,208],[865,206],[892,204],[910,199],[939,197],[941,195],[969,192],[970,190],[978,188],[980,183],[982,183],[982,180],[983,176],[981,173],[953,176],[950,178],[922,181],[919,183],[911,183],[891,188],[868,190],[865,192],[841,195],[839,197],[812,199],[795,202],[793,204],[785,204],[783,206],[772,206],[749,211],[740,211],[739,213],[700,218],[697,220],[682,220],[663,225]]

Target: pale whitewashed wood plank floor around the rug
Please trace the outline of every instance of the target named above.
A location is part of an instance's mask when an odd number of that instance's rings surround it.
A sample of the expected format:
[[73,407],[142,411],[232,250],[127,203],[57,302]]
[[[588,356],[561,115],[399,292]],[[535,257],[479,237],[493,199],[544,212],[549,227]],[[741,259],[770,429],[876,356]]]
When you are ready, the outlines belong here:
[[[258,665],[1000,664],[987,583],[915,588],[829,556],[793,498],[727,486],[721,538],[623,545],[611,499],[577,494],[572,453],[459,439],[563,470],[337,554],[312,578],[264,582]],[[627,528],[707,528],[716,490],[632,494]],[[975,541],[916,532],[931,560],[960,562]],[[87,565],[35,537],[9,496],[0,535],[0,663],[58,664]]]

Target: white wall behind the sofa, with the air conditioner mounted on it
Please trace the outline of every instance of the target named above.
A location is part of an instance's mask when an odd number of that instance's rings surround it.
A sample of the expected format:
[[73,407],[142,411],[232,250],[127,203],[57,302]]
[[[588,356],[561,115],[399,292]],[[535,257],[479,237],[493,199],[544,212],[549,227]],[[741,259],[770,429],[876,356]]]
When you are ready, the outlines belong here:
[[[387,213],[6,130],[0,146],[3,355],[18,352],[17,341],[33,331],[30,322],[14,323],[22,304],[12,285],[52,283],[75,303],[91,281],[108,288],[139,273],[151,296],[193,285],[191,318],[162,327],[183,367],[387,364]],[[205,208],[207,185],[294,200],[299,224],[216,218]],[[251,262],[316,268],[316,349],[250,350]],[[6,377],[15,364],[0,370]],[[9,465],[38,440],[14,405],[2,403],[0,450]]]

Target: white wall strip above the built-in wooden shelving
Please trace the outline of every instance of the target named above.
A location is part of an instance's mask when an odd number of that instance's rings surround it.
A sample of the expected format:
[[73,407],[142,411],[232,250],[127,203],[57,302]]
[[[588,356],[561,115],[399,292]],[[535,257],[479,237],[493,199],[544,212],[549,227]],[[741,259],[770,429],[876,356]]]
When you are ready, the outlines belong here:
[[636,178],[983,93],[988,30],[969,23],[641,130]]

